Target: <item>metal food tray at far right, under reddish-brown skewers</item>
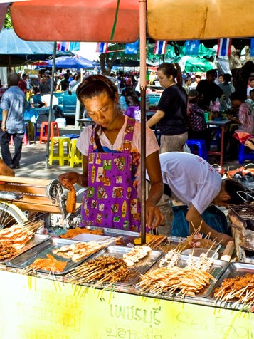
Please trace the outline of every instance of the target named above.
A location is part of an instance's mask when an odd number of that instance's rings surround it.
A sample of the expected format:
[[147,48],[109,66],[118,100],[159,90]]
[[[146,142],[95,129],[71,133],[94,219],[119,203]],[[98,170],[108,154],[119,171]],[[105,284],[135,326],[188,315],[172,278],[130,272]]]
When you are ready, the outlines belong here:
[[[213,286],[213,291],[216,288],[221,287],[221,283],[226,278],[236,278],[236,276],[245,276],[245,274],[251,273],[254,274],[254,264],[245,264],[245,263],[239,263],[239,262],[232,262],[229,263],[226,271],[223,272],[221,277],[218,279],[217,283]],[[211,298],[216,299],[213,296],[213,291],[211,291]]]

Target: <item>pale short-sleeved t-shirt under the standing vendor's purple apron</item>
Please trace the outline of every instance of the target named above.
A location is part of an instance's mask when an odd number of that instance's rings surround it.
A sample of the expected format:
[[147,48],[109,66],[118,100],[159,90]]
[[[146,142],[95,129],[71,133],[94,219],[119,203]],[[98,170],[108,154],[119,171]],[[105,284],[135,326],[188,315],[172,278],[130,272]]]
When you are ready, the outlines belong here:
[[[123,143],[123,138],[125,135],[125,128],[126,128],[126,123],[127,123],[127,118],[125,117],[125,123],[122,125],[122,128],[120,132],[118,133],[118,136],[115,140],[114,145],[111,144],[110,140],[107,139],[107,136],[105,135],[104,132],[100,133],[100,130],[98,132],[100,136],[100,143],[102,147],[107,147],[110,150],[121,150],[122,143]],[[87,126],[84,128],[84,130],[81,132],[80,137],[77,142],[77,147],[80,152],[87,156],[88,155],[88,147],[90,143],[90,137],[92,135],[92,125]],[[135,123],[135,128],[134,128],[134,134],[133,134],[133,140],[132,140],[132,151],[137,150],[137,152],[141,152],[141,125],[139,122],[136,121]],[[157,139],[154,135],[154,132],[150,130],[149,127],[146,127],[146,157],[148,155],[151,155],[152,153],[156,152],[159,150],[159,145],[157,142]],[[132,152],[131,151],[131,152]],[[106,152],[106,151],[105,151]],[[140,179],[141,179],[141,170],[140,170],[140,163],[139,167],[137,169],[137,182],[138,182],[138,187],[137,187],[137,192],[140,197]]]

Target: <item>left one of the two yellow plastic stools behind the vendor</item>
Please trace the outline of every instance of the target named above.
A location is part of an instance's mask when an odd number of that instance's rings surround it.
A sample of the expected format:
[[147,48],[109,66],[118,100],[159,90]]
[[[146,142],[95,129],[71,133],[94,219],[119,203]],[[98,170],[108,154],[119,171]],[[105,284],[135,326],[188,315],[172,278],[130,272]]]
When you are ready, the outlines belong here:
[[[67,143],[67,149],[65,150],[65,143]],[[58,152],[54,152],[54,148],[58,147]],[[69,153],[68,149],[70,147],[70,138],[69,137],[51,137],[51,150],[49,154],[49,165],[52,165],[53,160],[57,160],[60,166],[64,166],[65,160],[68,161]]]

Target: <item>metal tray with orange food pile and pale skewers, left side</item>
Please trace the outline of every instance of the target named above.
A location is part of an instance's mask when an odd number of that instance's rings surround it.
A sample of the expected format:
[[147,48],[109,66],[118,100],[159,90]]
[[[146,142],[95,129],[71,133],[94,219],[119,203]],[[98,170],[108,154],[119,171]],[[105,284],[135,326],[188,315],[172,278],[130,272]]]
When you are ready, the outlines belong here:
[[[58,256],[57,254],[53,254],[54,249],[60,249],[60,247],[65,245],[72,245],[77,244],[80,241],[75,241],[71,239],[61,239],[61,238],[51,238],[48,241],[44,241],[42,244],[39,244],[36,247],[33,247],[32,249],[29,249],[28,251],[24,252],[23,254],[20,254],[19,256],[16,256],[16,258],[6,261],[6,265],[14,268],[26,268],[27,266],[33,264],[33,261],[35,261],[38,258],[46,258],[47,254],[51,254],[55,257],[55,259],[59,261],[67,261],[67,264],[63,271],[61,272],[55,272],[54,275],[63,275],[68,273],[70,270],[72,270],[75,266],[78,266],[81,262],[83,262],[85,259],[88,259],[89,256],[92,254],[83,257],[83,259],[80,259],[80,261],[74,262],[72,259],[65,259],[63,256]],[[98,250],[99,251],[99,250]],[[36,270],[41,273],[49,273],[49,271],[43,271],[43,270]]]

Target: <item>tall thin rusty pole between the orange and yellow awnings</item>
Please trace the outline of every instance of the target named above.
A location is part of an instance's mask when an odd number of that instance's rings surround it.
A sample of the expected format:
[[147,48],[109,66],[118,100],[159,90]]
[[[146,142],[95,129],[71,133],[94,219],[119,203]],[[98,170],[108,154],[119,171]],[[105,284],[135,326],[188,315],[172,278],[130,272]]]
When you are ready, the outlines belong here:
[[146,11],[147,1],[139,1],[139,43],[140,43],[140,93],[141,93],[141,244],[146,243]]

